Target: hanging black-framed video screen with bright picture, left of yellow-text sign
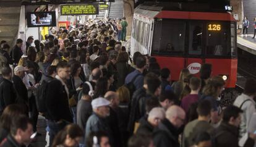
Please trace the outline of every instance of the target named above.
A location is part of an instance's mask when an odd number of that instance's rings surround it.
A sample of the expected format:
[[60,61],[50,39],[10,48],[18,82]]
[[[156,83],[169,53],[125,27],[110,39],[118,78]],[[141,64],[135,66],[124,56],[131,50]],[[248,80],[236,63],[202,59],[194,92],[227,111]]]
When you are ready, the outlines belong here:
[[28,27],[56,27],[55,11],[49,12],[28,12]]

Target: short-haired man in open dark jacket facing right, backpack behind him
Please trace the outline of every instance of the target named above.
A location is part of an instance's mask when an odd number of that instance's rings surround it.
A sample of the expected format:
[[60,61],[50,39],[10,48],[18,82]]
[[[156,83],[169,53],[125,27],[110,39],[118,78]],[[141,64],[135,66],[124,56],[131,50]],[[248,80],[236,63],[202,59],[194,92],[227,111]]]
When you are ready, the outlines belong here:
[[48,119],[50,146],[59,130],[64,128],[67,122],[72,122],[69,90],[66,85],[70,78],[70,65],[67,62],[59,62],[56,78],[58,80],[50,82],[46,90],[46,118]]

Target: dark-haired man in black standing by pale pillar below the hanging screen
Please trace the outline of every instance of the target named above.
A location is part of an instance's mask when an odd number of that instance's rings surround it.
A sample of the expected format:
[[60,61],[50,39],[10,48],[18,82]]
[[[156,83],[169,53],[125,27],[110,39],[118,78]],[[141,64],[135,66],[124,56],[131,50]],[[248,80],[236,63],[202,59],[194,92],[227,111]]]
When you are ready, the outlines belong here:
[[23,43],[22,39],[17,39],[16,44],[11,51],[11,57],[14,61],[14,64],[18,64],[21,56],[23,55],[23,52],[21,49],[22,43]]

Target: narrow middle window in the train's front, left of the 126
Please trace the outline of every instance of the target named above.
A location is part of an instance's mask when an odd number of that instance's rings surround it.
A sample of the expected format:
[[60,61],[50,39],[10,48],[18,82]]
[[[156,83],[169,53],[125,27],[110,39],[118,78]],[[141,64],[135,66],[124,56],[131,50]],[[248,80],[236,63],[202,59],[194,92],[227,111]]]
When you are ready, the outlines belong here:
[[202,22],[191,22],[189,25],[189,54],[202,53]]

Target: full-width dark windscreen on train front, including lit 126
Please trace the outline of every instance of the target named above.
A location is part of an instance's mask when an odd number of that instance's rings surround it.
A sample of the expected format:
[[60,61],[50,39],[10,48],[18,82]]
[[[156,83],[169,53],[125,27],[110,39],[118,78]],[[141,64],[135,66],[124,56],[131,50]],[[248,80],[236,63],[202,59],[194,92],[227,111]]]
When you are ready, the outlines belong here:
[[156,19],[153,54],[236,56],[235,28],[231,22]]

